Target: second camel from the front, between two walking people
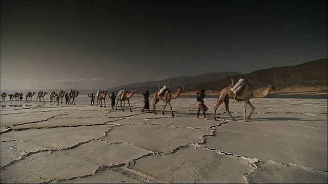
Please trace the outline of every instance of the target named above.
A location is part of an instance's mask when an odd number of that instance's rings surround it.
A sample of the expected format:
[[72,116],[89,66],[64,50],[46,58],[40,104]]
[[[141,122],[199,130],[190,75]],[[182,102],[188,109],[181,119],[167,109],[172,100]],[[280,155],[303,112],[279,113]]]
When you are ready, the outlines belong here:
[[172,99],[176,99],[179,97],[180,93],[184,90],[186,90],[184,87],[178,87],[177,91],[175,94],[172,94],[171,93],[171,89],[167,88],[165,91],[163,91],[163,93],[161,94],[161,96],[158,95],[158,91],[160,89],[158,89],[157,91],[155,91],[155,93],[153,94],[153,97],[154,97],[154,103],[153,103],[153,108],[154,108],[154,113],[157,114],[156,112],[156,103],[159,102],[160,100],[162,100],[163,102],[165,102],[165,106],[163,108],[163,113],[162,114],[165,114],[164,111],[165,111],[165,107],[167,104],[170,105],[170,108],[171,108],[171,112],[172,112],[172,117],[174,117],[174,114],[173,114],[173,110],[172,110],[172,106],[171,106],[171,100]]

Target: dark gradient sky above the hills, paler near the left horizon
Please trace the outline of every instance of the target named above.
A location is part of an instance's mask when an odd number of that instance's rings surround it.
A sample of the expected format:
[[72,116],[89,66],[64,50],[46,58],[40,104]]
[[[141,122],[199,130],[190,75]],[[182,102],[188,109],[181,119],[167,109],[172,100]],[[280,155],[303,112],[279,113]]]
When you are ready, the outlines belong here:
[[1,1],[1,90],[110,88],[327,58],[327,1]]

